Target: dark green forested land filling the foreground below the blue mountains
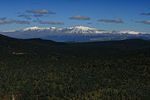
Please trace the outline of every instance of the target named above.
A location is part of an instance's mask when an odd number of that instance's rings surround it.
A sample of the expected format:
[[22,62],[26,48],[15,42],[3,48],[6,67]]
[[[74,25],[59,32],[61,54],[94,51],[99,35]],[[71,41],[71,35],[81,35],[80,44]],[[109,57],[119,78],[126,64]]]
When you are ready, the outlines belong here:
[[150,41],[0,35],[0,100],[150,100]]

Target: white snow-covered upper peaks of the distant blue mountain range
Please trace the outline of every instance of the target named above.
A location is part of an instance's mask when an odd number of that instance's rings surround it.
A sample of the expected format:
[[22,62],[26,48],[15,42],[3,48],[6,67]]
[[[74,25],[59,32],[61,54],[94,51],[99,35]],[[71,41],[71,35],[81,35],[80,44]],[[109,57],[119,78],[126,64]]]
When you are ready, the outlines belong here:
[[146,34],[145,32],[136,32],[136,31],[102,31],[97,30],[95,28],[85,27],[85,26],[75,26],[75,27],[65,27],[65,28],[57,28],[57,27],[48,27],[48,28],[40,28],[40,27],[29,27],[24,30],[24,32],[33,31],[33,32],[53,32],[53,33],[65,33],[65,34]]

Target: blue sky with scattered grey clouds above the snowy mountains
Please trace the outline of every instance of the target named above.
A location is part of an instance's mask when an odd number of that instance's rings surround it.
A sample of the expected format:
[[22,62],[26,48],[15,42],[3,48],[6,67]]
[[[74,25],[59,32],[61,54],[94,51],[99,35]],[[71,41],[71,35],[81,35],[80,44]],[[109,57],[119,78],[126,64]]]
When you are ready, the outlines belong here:
[[[149,4],[150,0],[1,0],[0,31],[81,25],[99,30],[150,32]],[[43,10],[55,14],[38,13]]]

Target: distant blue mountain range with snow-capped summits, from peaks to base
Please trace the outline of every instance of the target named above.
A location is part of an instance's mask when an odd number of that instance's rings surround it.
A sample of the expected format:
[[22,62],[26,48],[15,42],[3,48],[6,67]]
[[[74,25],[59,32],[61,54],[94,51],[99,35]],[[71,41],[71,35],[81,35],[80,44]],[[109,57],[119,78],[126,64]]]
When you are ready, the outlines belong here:
[[123,40],[123,39],[150,39],[150,34],[145,32],[135,31],[105,31],[97,30],[95,28],[76,26],[76,27],[29,27],[23,30],[12,32],[1,32],[3,35],[16,37],[16,38],[42,38],[54,41],[108,41],[108,40]]

